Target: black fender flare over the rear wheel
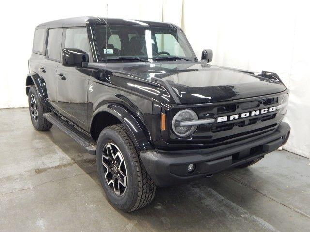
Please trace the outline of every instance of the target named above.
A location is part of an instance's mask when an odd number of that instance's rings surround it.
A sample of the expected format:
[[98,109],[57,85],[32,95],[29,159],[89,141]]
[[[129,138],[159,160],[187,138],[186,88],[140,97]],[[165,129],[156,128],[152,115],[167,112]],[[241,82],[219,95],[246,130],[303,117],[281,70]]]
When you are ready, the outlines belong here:
[[35,72],[28,73],[26,77],[26,95],[28,95],[29,88],[31,87],[31,85],[28,83],[29,78],[32,79],[32,82],[37,89],[40,101],[44,104],[47,104],[47,87],[45,81]]

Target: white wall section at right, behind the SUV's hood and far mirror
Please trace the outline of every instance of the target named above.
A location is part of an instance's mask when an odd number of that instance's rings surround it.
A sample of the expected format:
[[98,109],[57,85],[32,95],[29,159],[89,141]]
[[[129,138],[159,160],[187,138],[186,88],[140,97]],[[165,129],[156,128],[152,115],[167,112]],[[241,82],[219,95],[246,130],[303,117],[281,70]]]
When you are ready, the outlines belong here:
[[283,148],[310,158],[309,9],[302,0],[184,0],[181,21],[198,58],[211,48],[212,64],[279,75],[290,89]]

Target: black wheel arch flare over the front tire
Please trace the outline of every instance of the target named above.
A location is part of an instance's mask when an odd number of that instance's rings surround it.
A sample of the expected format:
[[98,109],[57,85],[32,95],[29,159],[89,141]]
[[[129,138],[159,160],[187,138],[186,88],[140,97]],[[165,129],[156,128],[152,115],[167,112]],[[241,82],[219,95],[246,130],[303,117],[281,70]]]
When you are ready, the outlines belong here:
[[[106,121],[107,116],[109,116],[108,121]],[[103,125],[100,124],[98,130],[96,128],[98,120],[103,117],[105,121]],[[140,150],[152,147],[152,138],[144,122],[138,116],[134,116],[124,105],[118,103],[108,103],[95,110],[90,120],[90,134],[96,140],[105,127],[118,123],[126,127],[133,142]]]

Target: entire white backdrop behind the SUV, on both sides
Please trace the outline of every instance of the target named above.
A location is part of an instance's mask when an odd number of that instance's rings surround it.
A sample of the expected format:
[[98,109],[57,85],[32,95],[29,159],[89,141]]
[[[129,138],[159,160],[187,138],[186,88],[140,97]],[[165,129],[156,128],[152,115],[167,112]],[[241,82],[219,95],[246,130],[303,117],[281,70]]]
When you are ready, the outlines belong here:
[[[172,22],[184,29],[196,56],[213,50],[212,64],[278,73],[291,90],[285,149],[310,158],[310,14],[302,0],[33,0],[0,10],[0,108],[25,107],[25,75],[37,24],[76,16]],[[62,7],[61,7],[62,6]],[[17,27],[20,25],[21,27]]]

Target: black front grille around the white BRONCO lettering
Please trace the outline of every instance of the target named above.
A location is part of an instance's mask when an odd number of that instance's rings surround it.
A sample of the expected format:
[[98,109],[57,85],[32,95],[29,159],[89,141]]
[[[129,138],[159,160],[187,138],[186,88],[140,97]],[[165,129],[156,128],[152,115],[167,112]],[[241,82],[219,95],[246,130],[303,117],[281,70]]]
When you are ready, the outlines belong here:
[[[281,93],[283,95],[283,93]],[[279,104],[278,99],[281,94],[270,95],[270,97],[251,98],[249,100],[235,100],[228,102],[218,102],[206,105],[194,105],[186,107],[194,110],[199,119],[217,118],[231,116],[245,112],[251,112],[270,108]],[[173,109],[172,115],[180,108]],[[170,131],[169,143],[174,141],[187,144],[201,144],[215,146],[223,143],[232,143],[238,140],[259,136],[275,130],[283,115],[277,111],[267,112],[256,116],[248,116],[231,121],[219,122],[209,125],[199,125],[191,137],[179,138]]]

